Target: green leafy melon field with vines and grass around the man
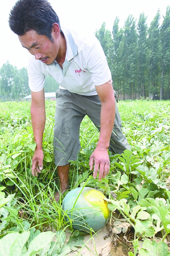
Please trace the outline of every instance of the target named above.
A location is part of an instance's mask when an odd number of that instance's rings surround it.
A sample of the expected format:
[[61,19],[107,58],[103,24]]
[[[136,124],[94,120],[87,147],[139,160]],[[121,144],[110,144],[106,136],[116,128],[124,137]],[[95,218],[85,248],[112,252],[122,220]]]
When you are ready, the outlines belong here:
[[[70,161],[69,191],[91,187],[104,194],[108,236],[127,244],[126,255],[170,256],[170,101],[121,101],[118,108],[131,151],[109,153],[109,174],[93,179],[88,163],[99,133],[85,117],[78,159]],[[30,171],[36,147],[30,103],[5,102],[0,109],[0,255],[82,255],[85,234],[72,229],[62,210],[67,192],[58,203],[50,200],[60,188],[53,156],[55,102],[46,101],[44,169],[38,177]],[[90,227],[89,233],[93,239]]]

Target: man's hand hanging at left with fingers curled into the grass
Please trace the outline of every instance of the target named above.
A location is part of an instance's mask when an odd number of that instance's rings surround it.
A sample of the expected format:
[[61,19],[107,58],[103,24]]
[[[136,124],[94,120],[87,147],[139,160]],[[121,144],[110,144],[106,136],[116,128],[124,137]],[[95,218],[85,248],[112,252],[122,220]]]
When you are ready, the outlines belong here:
[[[40,170],[43,170],[43,159],[44,159],[44,153],[43,149],[35,149],[34,156],[32,158],[32,167],[31,167],[31,173],[33,176],[38,176],[38,173],[41,173]],[[39,166],[39,169],[38,169]]]

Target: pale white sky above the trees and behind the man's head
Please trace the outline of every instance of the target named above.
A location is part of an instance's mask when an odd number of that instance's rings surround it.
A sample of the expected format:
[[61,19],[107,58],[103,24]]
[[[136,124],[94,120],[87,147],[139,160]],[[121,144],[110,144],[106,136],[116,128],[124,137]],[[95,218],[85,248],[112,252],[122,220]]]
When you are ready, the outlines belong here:
[[[16,0],[0,0],[0,68],[7,60],[17,68],[27,67],[28,51],[22,48],[17,35],[8,26],[8,16]],[[119,17],[119,28],[131,14],[138,21],[144,12],[150,25],[158,9],[163,21],[170,0],[49,0],[57,13],[63,27],[84,33],[94,33],[103,22],[112,31],[116,16]]]

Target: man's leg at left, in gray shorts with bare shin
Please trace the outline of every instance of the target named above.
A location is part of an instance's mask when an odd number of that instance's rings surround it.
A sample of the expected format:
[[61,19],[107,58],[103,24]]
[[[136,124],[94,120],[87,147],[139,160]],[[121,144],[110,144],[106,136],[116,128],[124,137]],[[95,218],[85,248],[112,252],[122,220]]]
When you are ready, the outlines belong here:
[[[80,124],[86,114],[86,99],[67,90],[56,92],[54,125],[54,160],[57,165],[61,193],[68,189],[69,160],[77,160],[80,150]],[[59,193],[54,197],[58,201]]]

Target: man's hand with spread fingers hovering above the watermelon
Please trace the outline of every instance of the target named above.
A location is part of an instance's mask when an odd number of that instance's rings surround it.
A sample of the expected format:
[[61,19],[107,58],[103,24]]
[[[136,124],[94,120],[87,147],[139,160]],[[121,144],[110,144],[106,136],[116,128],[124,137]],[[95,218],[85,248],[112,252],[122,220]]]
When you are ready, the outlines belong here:
[[93,177],[96,179],[97,173],[99,170],[99,181],[102,178],[105,178],[106,175],[109,173],[110,169],[110,161],[108,157],[108,151],[105,148],[102,147],[96,147],[96,149],[93,151],[93,153],[90,156],[90,171],[93,170],[93,165],[95,162],[95,167],[94,167],[94,174]]

